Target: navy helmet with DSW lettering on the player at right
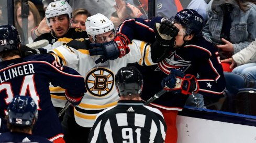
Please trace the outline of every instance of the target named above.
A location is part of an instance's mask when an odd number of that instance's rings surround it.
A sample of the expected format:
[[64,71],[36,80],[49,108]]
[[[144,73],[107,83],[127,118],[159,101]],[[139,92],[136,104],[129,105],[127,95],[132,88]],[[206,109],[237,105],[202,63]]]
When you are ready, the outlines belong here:
[[185,33],[187,35],[193,32],[195,36],[198,36],[204,28],[204,18],[194,9],[183,9],[180,12],[177,12],[174,20],[186,28]]

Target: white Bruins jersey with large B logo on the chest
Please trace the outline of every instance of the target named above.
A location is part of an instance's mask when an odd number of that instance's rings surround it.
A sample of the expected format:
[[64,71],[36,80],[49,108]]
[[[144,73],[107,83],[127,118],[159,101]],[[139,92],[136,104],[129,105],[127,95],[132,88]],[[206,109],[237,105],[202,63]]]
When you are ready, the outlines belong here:
[[74,108],[75,121],[80,126],[92,127],[99,112],[117,104],[119,96],[114,75],[120,68],[133,62],[146,66],[156,64],[151,59],[150,44],[133,40],[129,47],[130,53],[125,57],[99,64],[95,63],[99,56],[90,56],[86,49],[59,46],[51,51],[60,64],[75,69],[85,79],[87,93],[80,105]]

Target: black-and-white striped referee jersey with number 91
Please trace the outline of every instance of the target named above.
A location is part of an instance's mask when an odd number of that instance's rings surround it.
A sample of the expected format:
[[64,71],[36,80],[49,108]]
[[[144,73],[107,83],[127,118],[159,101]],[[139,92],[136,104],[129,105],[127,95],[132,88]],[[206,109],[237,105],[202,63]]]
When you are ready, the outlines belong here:
[[89,142],[164,142],[166,124],[162,113],[138,100],[120,100],[100,112]]

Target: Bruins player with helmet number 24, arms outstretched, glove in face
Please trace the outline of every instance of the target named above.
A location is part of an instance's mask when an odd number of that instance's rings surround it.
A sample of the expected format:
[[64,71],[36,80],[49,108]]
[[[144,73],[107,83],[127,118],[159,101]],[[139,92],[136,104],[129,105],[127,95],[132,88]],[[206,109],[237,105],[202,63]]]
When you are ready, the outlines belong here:
[[[86,142],[97,113],[116,105],[119,96],[115,90],[114,75],[120,68],[133,62],[146,66],[156,64],[152,61],[156,57],[152,57],[149,43],[134,40],[127,47],[126,37],[116,34],[113,22],[104,15],[88,17],[85,24],[90,41],[74,40],[50,51],[61,64],[83,75],[87,88],[80,105],[68,108],[64,115],[62,125],[66,142]],[[98,48],[89,47],[90,43]],[[81,45],[84,45],[83,49]],[[75,46],[78,50],[72,48]],[[131,50],[127,54],[129,48]]]

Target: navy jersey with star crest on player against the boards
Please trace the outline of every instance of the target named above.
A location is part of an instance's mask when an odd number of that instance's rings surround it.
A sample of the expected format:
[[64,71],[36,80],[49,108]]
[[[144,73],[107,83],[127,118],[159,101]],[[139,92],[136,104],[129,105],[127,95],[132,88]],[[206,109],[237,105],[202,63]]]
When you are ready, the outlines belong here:
[[[155,41],[154,23],[160,23],[162,20],[162,17],[154,17],[152,20],[129,19],[120,25],[118,32],[127,35],[130,40],[136,38],[152,43]],[[181,48],[170,48],[169,54],[157,66],[141,67],[137,65],[137,68],[142,72],[144,80],[141,95],[143,100],[149,99],[153,96],[152,94],[162,89],[161,81],[172,68],[182,70],[185,74],[199,75],[197,77],[199,93],[204,96],[219,98],[226,87],[218,51],[202,36],[186,43]],[[163,109],[181,111],[187,97],[167,92],[155,100],[153,105]]]

